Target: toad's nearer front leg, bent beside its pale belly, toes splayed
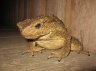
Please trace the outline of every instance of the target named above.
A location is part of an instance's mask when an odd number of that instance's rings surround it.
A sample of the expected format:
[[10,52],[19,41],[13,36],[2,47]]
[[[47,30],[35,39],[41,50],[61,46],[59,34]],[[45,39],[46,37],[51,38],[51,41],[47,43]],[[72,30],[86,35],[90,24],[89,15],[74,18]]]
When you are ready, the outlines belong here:
[[59,58],[58,61],[60,62],[63,57],[67,57],[70,54],[70,39],[65,41],[65,44],[62,48],[54,50],[48,56],[49,58]]

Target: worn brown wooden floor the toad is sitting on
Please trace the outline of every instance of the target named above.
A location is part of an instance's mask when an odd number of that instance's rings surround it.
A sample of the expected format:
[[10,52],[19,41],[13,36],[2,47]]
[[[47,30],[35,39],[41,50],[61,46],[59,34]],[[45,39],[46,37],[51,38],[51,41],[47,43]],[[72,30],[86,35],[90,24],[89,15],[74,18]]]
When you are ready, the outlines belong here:
[[0,71],[96,71],[96,54],[71,54],[61,62],[57,58],[47,59],[49,50],[22,55],[26,41],[16,32],[0,33]]

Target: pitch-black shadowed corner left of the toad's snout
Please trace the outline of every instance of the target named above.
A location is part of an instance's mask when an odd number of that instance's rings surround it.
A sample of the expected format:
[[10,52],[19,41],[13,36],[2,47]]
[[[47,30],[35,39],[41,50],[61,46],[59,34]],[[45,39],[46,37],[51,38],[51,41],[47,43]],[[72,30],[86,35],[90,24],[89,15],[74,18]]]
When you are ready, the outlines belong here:
[[0,0],[0,28],[15,27],[16,21],[11,18],[12,15],[16,17],[12,11],[15,7],[16,0]]

